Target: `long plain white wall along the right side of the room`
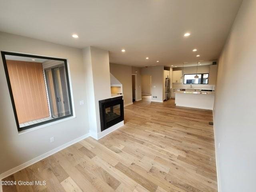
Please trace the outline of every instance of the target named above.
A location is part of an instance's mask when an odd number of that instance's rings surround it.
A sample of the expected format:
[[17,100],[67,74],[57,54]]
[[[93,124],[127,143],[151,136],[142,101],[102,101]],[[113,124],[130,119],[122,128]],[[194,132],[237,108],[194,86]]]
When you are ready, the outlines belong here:
[[219,58],[214,129],[220,192],[254,192],[256,1],[244,0]]

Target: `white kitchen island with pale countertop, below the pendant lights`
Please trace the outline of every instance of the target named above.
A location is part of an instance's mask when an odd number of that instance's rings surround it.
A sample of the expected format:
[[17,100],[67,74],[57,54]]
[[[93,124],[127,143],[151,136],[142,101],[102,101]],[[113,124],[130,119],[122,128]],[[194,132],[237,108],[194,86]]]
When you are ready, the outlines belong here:
[[214,92],[175,92],[176,106],[213,110]]

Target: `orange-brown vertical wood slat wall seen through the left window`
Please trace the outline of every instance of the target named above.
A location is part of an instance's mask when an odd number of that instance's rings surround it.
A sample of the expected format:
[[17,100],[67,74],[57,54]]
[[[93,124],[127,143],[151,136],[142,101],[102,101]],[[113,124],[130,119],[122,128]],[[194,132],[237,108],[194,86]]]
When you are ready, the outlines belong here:
[[6,60],[19,124],[49,116],[42,63]]

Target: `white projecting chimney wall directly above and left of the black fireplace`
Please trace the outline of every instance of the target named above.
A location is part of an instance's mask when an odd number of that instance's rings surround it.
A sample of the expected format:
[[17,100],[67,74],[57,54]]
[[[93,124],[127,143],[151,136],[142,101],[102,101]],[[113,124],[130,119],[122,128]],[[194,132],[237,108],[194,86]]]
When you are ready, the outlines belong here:
[[100,131],[99,100],[111,97],[109,55],[107,50],[95,47],[84,48],[84,66],[86,71],[88,114],[90,133],[98,138]]

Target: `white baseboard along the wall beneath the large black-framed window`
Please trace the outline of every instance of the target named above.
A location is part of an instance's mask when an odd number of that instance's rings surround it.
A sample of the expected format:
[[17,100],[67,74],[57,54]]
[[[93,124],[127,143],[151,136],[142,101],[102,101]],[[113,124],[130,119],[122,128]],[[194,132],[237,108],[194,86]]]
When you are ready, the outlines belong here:
[[74,139],[74,140],[72,140],[70,142],[67,142],[67,143],[65,143],[65,144],[63,144],[63,145],[61,145],[61,146],[59,146],[59,147],[57,147],[57,148],[55,148],[53,150],[50,150],[50,151],[46,152],[45,154],[42,154],[42,155],[40,155],[40,156],[38,156],[38,157],[36,157],[36,158],[34,158],[32,160],[29,160],[28,162],[25,162],[25,163],[23,163],[21,165],[18,165],[16,167],[14,167],[14,168],[12,168],[12,169],[10,169],[10,170],[0,174],[0,180],[2,180],[3,178],[6,178],[6,177],[8,177],[8,176],[18,172],[18,171],[20,171],[20,170],[22,170],[22,169],[24,169],[24,168],[26,168],[26,167],[34,164],[34,163],[36,163],[36,162],[38,162],[38,161],[40,161],[40,160],[42,160],[42,159],[44,159],[44,158],[46,158],[46,157],[56,153],[56,152],[59,152],[60,150],[62,150],[64,148],[67,148],[68,146],[70,146],[72,144],[75,144],[75,143],[77,143],[77,142],[79,142],[79,141],[81,141],[81,140],[83,140],[83,139],[85,139],[85,138],[87,138],[89,136],[90,136],[90,133],[85,134],[85,135],[83,135],[81,137],[78,137],[78,138],[76,138],[76,139]]

